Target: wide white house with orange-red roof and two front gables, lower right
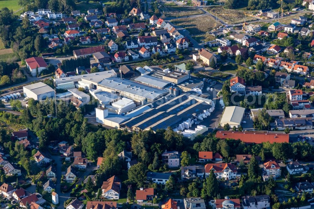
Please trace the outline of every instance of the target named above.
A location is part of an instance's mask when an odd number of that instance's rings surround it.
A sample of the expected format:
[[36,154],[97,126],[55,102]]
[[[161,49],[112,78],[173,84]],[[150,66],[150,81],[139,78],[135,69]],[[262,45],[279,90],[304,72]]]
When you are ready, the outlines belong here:
[[205,176],[209,176],[211,170],[218,179],[236,179],[238,174],[236,166],[231,163],[208,163],[205,165]]

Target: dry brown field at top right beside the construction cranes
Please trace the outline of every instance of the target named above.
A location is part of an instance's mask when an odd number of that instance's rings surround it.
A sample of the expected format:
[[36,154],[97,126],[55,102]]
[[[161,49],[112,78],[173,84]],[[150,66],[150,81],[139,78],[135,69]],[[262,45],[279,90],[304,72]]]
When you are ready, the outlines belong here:
[[[223,7],[206,7],[205,9],[213,15],[216,15],[217,13],[217,17],[228,24],[244,23],[245,15],[244,11],[242,10],[225,9]],[[246,16],[246,21],[252,20],[256,19],[250,16]]]

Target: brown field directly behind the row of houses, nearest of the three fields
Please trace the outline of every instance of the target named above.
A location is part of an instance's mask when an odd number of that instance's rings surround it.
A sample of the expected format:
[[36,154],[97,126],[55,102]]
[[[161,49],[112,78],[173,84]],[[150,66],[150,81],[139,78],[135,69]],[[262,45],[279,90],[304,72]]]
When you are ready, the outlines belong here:
[[[173,19],[171,22],[187,29],[190,35],[198,35],[213,29],[216,20],[209,15],[204,15],[200,17]],[[220,22],[217,22],[217,24],[219,25]]]

